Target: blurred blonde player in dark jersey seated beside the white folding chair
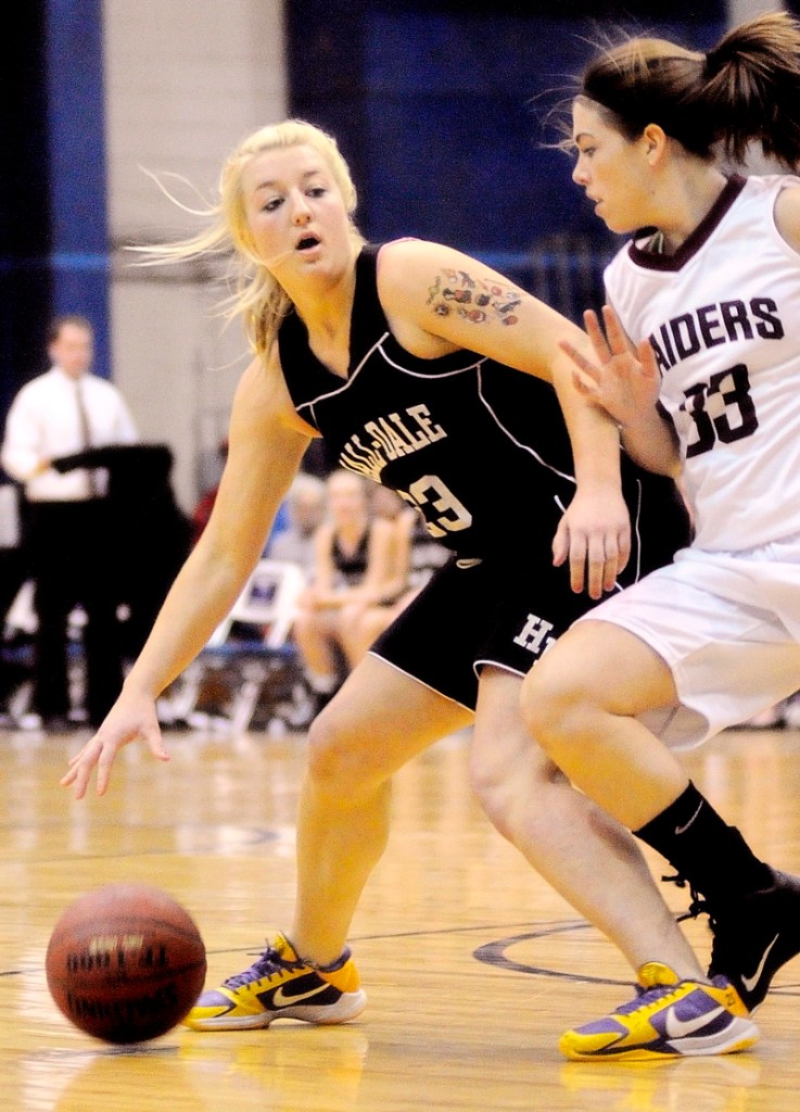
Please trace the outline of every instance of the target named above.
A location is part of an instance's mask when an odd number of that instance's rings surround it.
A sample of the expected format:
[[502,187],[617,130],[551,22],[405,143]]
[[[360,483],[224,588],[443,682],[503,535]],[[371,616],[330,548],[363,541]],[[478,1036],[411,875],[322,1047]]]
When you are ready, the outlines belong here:
[[314,535],[313,577],[298,604],[292,634],[316,714],[349,671],[343,608],[381,599],[390,584],[394,527],[372,515],[367,483],[347,470],[329,476],[328,520]]

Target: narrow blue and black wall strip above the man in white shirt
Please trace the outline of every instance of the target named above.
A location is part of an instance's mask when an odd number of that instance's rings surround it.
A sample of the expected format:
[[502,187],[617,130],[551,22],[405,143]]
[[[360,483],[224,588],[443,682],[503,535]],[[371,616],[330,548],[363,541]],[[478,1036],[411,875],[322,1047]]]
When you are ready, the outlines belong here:
[[1,427],[54,314],[89,317],[111,368],[101,0],[26,0],[0,42]]

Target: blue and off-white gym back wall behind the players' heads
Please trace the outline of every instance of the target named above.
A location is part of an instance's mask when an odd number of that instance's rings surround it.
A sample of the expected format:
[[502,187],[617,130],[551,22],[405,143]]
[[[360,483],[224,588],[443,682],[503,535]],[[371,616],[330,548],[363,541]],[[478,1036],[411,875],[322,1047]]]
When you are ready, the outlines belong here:
[[98,371],[142,438],[171,446],[191,510],[244,345],[213,317],[208,268],[131,269],[124,245],[191,224],[142,168],[204,193],[249,130],[304,117],[338,138],[369,239],[449,244],[580,321],[619,241],[556,149],[573,76],[617,28],[703,48],[729,12],[723,0],[30,0],[18,14],[0,44],[0,423],[44,369],[51,314],[82,311]]

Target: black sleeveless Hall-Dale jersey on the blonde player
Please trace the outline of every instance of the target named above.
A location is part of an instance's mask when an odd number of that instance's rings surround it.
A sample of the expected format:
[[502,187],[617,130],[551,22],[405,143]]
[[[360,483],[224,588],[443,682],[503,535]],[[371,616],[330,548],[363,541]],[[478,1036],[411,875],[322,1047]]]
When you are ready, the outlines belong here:
[[[347,379],[317,359],[297,314],[281,324],[281,366],[298,414],[342,467],[397,490],[459,557],[530,559],[543,546],[549,558],[576,488],[554,389],[466,349],[436,359],[408,353],[378,297],[378,250],[367,246],[357,260]],[[636,534],[638,476],[628,487]],[[638,554],[631,563],[639,567]]]

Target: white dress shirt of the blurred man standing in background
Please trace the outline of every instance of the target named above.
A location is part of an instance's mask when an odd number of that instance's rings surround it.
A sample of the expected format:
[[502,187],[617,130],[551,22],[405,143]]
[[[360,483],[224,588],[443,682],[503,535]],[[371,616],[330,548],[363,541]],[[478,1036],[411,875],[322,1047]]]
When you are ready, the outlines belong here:
[[[77,387],[87,411],[89,445],[81,427]],[[71,378],[57,366],[27,383],[11,403],[0,461],[11,478],[24,483],[31,502],[83,502],[90,497],[87,470],[77,468],[61,475],[49,467],[37,474],[42,461],[87,447],[136,444],[138,439],[133,418],[116,386],[91,374]],[[104,494],[108,471],[92,474],[98,494]]]

